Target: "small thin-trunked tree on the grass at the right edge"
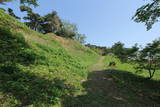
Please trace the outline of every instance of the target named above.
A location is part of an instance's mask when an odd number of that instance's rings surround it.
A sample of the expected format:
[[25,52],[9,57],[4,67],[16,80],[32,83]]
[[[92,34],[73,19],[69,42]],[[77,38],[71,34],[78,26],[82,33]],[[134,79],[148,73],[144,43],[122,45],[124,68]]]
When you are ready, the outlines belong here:
[[160,40],[155,40],[148,44],[137,56],[136,69],[137,71],[147,70],[149,79],[151,79],[155,72],[160,69]]

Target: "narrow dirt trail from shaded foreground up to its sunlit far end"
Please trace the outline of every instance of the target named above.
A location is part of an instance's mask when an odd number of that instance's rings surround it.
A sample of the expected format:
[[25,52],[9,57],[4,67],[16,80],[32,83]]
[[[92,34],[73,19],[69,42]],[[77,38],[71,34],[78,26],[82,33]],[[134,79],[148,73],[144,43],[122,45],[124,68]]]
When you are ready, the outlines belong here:
[[[88,76],[88,81],[84,83],[87,87],[87,100],[84,107],[125,107],[125,99],[122,97],[120,90],[116,87],[112,76],[105,70],[105,57],[102,56],[97,64],[92,65],[92,71]],[[128,107],[128,106],[126,106]]]

